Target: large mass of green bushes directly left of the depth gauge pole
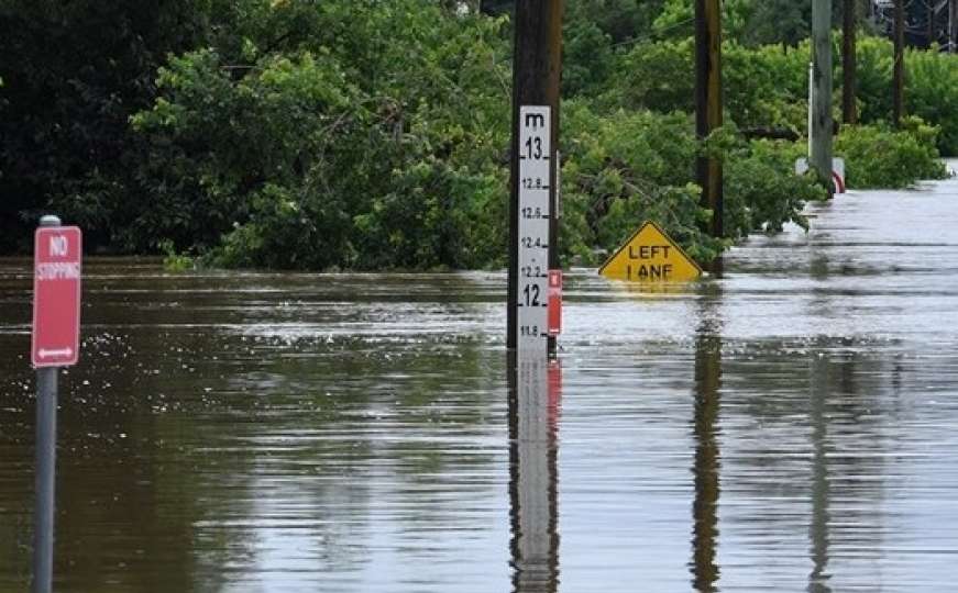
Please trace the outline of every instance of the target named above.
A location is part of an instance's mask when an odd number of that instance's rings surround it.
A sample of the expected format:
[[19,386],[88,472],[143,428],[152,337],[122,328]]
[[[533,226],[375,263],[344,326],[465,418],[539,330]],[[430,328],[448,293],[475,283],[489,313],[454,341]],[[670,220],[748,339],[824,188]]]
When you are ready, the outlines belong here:
[[[132,123],[150,141],[143,178],[173,171],[175,182],[144,188],[154,208],[128,240],[151,228],[209,249],[221,266],[500,260],[503,233],[475,233],[492,230],[505,202],[498,160],[508,136],[494,116],[508,110],[500,22],[451,18],[420,0],[349,15],[327,7],[300,22],[298,5],[274,4],[255,13],[240,55],[201,49],[161,69],[155,105]],[[378,51],[324,45],[335,34],[326,19],[342,18],[354,36],[379,40]],[[264,53],[262,36],[279,25],[258,32],[263,19],[317,30],[287,37],[295,49]]]

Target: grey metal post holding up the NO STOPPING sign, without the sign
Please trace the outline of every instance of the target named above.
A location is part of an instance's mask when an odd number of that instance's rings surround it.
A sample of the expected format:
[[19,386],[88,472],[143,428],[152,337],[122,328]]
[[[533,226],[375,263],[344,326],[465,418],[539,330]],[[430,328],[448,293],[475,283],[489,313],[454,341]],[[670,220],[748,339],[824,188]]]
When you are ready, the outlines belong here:
[[[43,216],[41,226],[59,226]],[[36,506],[33,526],[33,592],[53,591],[53,527],[56,485],[56,367],[36,369]]]

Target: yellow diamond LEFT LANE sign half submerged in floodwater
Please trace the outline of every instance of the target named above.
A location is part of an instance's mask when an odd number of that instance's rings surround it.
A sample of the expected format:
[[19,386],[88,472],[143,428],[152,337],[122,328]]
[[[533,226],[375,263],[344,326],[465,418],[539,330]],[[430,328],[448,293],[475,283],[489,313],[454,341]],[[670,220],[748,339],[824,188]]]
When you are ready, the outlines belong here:
[[687,282],[702,276],[702,268],[650,221],[608,258],[598,273],[628,282]]

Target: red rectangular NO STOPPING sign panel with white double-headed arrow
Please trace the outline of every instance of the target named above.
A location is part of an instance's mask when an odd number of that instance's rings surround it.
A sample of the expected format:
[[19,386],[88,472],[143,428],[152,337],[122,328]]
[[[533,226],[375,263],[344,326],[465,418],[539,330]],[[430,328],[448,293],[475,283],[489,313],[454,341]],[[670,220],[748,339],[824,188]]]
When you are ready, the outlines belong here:
[[41,226],[33,258],[34,367],[76,365],[80,342],[80,230]]

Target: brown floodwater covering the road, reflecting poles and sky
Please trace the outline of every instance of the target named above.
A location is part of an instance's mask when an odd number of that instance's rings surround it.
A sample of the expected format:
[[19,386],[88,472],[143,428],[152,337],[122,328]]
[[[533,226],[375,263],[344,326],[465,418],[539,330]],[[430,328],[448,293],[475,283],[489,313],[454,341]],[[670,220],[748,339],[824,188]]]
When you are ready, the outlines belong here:
[[[62,592],[954,591],[958,181],[854,192],[674,291],[89,259]],[[30,262],[0,261],[0,591],[30,580]],[[509,377],[517,377],[510,380]]]

